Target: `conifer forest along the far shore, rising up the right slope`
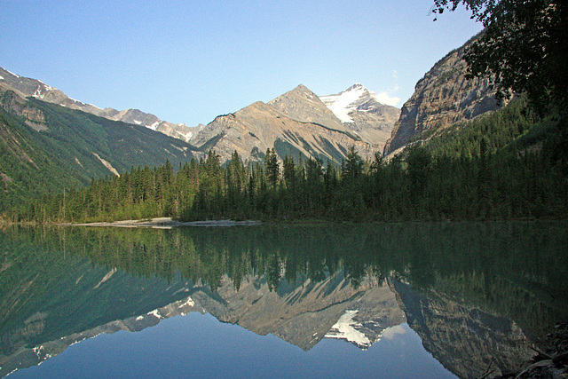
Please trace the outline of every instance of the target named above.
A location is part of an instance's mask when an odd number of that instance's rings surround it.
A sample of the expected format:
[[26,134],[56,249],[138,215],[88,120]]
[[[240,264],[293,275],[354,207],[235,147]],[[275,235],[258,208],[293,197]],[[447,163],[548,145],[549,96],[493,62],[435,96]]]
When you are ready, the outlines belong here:
[[12,219],[98,221],[143,217],[183,220],[448,220],[564,218],[568,176],[556,154],[556,123],[531,114],[523,99],[430,138],[384,162],[351,149],[341,165],[286,157],[264,164],[238,154],[169,162],[38,201]]

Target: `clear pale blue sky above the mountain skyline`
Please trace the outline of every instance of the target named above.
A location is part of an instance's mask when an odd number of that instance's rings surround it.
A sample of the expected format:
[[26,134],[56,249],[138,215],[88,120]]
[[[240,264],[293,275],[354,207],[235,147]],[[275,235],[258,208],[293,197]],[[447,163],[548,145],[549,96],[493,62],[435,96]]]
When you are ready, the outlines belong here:
[[320,96],[362,83],[402,107],[438,59],[481,30],[465,10],[433,22],[432,4],[0,0],[0,67],[189,126],[300,83]]

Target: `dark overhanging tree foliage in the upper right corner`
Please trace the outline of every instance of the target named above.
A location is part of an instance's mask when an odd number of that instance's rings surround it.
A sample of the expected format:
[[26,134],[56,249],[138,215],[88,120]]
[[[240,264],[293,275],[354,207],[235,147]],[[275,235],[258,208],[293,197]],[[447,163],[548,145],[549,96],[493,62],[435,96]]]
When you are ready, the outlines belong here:
[[[434,13],[463,4],[485,33],[465,59],[470,76],[489,76],[498,99],[526,93],[540,113],[560,112],[568,99],[568,4],[548,0],[434,0]],[[565,129],[565,128],[563,128]]]

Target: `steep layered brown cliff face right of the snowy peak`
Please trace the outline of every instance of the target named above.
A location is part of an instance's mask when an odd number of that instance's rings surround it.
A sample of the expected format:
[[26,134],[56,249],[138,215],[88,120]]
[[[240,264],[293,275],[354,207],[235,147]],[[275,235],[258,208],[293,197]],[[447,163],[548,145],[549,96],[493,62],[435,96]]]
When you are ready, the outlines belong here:
[[384,147],[384,155],[406,146],[425,130],[441,130],[454,122],[469,121],[498,109],[489,79],[465,78],[467,65],[463,53],[469,43],[440,59],[416,83],[414,94],[402,107]]

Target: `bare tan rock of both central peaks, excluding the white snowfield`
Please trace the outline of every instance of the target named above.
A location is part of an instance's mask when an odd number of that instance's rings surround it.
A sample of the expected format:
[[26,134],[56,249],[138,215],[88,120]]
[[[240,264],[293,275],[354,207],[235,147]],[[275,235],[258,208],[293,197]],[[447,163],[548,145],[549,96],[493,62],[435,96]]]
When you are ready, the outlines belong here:
[[233,151],[244,160],[261,161],[272,146],[280,159],[288,154],[341,162],[351,147],[365,158],[372,157],[390,133],[386,120],[390,117],[394,122],[394,117],[383,114],[396,113],[396,108],[384,108],[388,110],[383,112],[379,109],[382,105],[367,100],[361,101],[357,106],[360,109],[355,111],[359,123],[342,122],[333,109],[300,84],[268,103],[259,101],[234,114],[218,116],[190,142],[202,151],[215,150],[222,161],[228,160]]

